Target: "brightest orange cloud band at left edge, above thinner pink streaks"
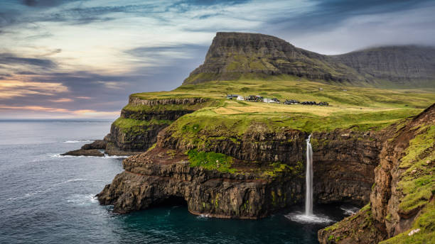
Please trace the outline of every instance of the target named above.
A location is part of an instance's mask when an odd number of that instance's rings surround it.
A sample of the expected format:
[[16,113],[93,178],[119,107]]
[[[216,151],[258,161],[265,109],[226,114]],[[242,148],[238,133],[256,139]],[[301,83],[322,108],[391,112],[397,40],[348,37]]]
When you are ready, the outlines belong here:
[[65,87],[62,83],[0,80],[0,99],[10,99],[14,96],[27,96],[31,94],[53,96],[66,91],[68,91],[68,87]]

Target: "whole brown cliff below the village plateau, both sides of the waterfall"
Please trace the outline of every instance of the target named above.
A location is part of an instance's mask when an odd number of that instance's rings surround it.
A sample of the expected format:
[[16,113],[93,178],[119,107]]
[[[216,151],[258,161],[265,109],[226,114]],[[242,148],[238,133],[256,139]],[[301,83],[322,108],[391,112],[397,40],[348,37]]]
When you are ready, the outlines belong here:
[[[119,213],[181,199],[193,214],[220,218],[262,218],[301,204],[308,135],[296,130],[272,133],[259,127],[256,124],[256,130],[233,140],[204,131],[207,135],[197,135],[208,138],[207,143],[200,143],[203,148],[173,136],[172,127],[165,128],[159,133],[156,148],[124,160],[125,171],[98,199],[102,204],[114,204],[114,211]],[[382,140],[381,133],[375,132],[313,133],[315,201],[368,201]],[[183,152],[193,148],[234,157],[236,171],[191,167]]]

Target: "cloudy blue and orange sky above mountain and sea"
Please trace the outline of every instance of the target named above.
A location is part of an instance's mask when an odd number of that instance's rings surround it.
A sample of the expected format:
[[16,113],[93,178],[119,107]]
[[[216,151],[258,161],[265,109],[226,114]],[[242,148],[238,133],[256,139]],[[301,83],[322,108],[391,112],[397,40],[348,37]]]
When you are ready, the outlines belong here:
[[218,31],[326,55],[435,45],[435,1],[1,0],[0,119],[116,118],[131,93],[175,89]]

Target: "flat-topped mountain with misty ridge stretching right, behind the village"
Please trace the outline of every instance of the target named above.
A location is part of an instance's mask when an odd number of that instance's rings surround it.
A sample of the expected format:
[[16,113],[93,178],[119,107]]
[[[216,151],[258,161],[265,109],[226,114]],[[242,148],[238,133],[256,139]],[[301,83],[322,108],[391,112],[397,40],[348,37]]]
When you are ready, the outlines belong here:
[[220,32],[203,65],[183,84],[280,75],[355,86],[434,87],[435,48],[409,45],[321,55],[272,35]]

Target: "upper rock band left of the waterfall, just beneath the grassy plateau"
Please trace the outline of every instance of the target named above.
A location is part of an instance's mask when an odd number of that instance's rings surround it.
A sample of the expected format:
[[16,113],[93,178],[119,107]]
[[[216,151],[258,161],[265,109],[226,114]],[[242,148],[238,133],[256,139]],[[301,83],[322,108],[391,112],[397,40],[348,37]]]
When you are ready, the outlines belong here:
[[[304,147],[307,133],[297,130],[279,132],[267,131],[267,126],[254,123],[248,128],[247,133],[230,135],[222,130],[201,131],[195,138],[206,138],[205,142],[186,140],[186,137],[174,135],[174,128],[168,128],[159,134],[157,145],[160,148],[171,148],[178,151],[187,151],[193,148],[200,150],[223,153],[240,160],[252,162],[302,162],[305,159]],[[225,131],[225,129],[223,130]],[[226,135],[226,136],[225,136]]]

